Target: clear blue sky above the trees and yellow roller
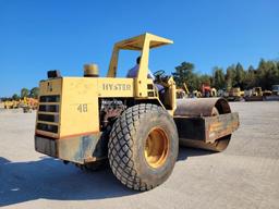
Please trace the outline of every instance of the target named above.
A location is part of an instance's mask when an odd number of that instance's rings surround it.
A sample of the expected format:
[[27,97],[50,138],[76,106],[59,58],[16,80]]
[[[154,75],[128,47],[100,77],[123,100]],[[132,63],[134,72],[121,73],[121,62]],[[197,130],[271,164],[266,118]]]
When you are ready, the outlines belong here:
[[[257,66],[279,58],[278,11],[278,0],[0,0],[0,97],[38,86],[48,70],[83,76],[96,63],[105,76],[113,44],[144,33],[174,41],[151,50],[153,72]],[[118,76],[136,57],[120,53]]]

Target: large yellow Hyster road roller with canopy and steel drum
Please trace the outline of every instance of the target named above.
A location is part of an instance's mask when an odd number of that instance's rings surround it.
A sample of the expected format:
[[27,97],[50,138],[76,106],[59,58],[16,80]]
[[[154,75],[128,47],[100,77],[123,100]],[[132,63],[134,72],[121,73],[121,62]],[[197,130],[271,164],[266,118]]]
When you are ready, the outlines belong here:
[[[179,144],[226,149],[239,115],[225,99],[177,100],[171,76],[155,73],[155,81],[147,78],[149,50],[169,44],[151,34],[117,42],[107,77],[98,77],[96,65],[86,65],[84,77],[48,72],[39,84],[35,149],[86,168],[108,159],[117,179],[137,190],[169,177]],[[142,53],[136,77],[117,77],[120,50]]]

